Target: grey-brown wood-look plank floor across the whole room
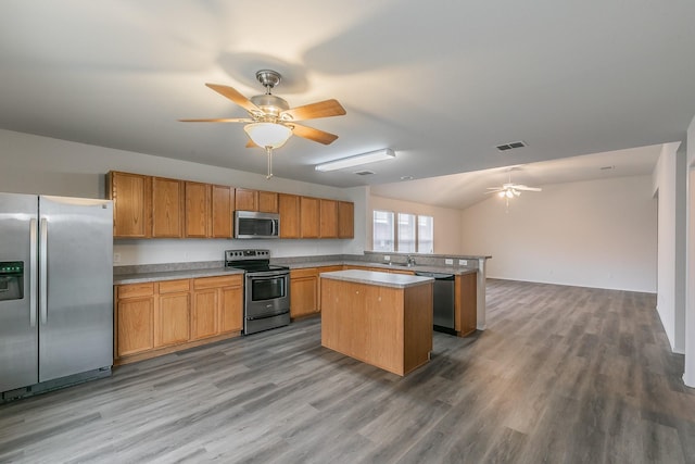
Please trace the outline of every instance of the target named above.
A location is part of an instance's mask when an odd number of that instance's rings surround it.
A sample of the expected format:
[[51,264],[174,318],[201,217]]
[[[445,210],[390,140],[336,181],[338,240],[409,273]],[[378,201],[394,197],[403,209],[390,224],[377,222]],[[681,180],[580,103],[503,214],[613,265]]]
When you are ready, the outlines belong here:
[[0,462],[695,463],[655,296],[490,280],[488,330],[405,378],[318,318],[0,405]]

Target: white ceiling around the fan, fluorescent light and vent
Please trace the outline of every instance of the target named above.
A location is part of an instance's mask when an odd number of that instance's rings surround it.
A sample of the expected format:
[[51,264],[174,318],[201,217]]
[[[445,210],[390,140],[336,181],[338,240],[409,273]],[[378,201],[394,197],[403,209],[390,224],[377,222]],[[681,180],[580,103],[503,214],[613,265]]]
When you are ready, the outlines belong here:
[[[306,124],[339,135],[332,145],[293,137],[277,150],[279,177],[382,185],[606,153],[684,140],[694,23],[693,0],[5,0],[0,127],[265,174],[241,125],[177,120],[244,116],[204,84],[250,97],[263,92],[255,72],[273,68],[290,105],[337,98],[348,111]],[[494,149],[516,140],[528,147]],[[314,171],[386,147],[397,158],[374,175]],[[555,183],[548,166],[513,180]],[[420,183],[460,204],[462,185],[506,177],[490,173]]]

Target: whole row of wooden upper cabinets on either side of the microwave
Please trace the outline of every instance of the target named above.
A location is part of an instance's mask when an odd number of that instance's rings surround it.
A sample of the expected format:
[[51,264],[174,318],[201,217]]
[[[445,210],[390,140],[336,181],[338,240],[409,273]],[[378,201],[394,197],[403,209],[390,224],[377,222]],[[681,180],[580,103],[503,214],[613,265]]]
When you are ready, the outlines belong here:
[[[280,214],[280,238],[353,238],[349,201],[110,172],[114,238],[233,238],[233,212]],[[193,304],[193,303],[191,303]]]

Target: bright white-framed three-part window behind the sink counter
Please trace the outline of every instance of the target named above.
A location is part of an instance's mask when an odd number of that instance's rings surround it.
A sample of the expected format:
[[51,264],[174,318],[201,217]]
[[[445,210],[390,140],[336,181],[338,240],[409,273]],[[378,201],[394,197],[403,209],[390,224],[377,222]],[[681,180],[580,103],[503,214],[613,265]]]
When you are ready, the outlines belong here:
[[[394,218],[397,217],[397,222]],[[434,217],[374,211],[372,251],[434,252]]]

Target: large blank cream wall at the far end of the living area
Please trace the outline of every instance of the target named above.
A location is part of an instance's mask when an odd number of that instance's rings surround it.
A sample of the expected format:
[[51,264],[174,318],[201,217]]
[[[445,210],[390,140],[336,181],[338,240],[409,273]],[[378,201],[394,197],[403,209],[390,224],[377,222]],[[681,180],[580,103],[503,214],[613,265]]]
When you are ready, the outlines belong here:
[[463,212],[462,248],[491,254],[488,277],[656,291],[657,209],[649,176],[543,186]]

